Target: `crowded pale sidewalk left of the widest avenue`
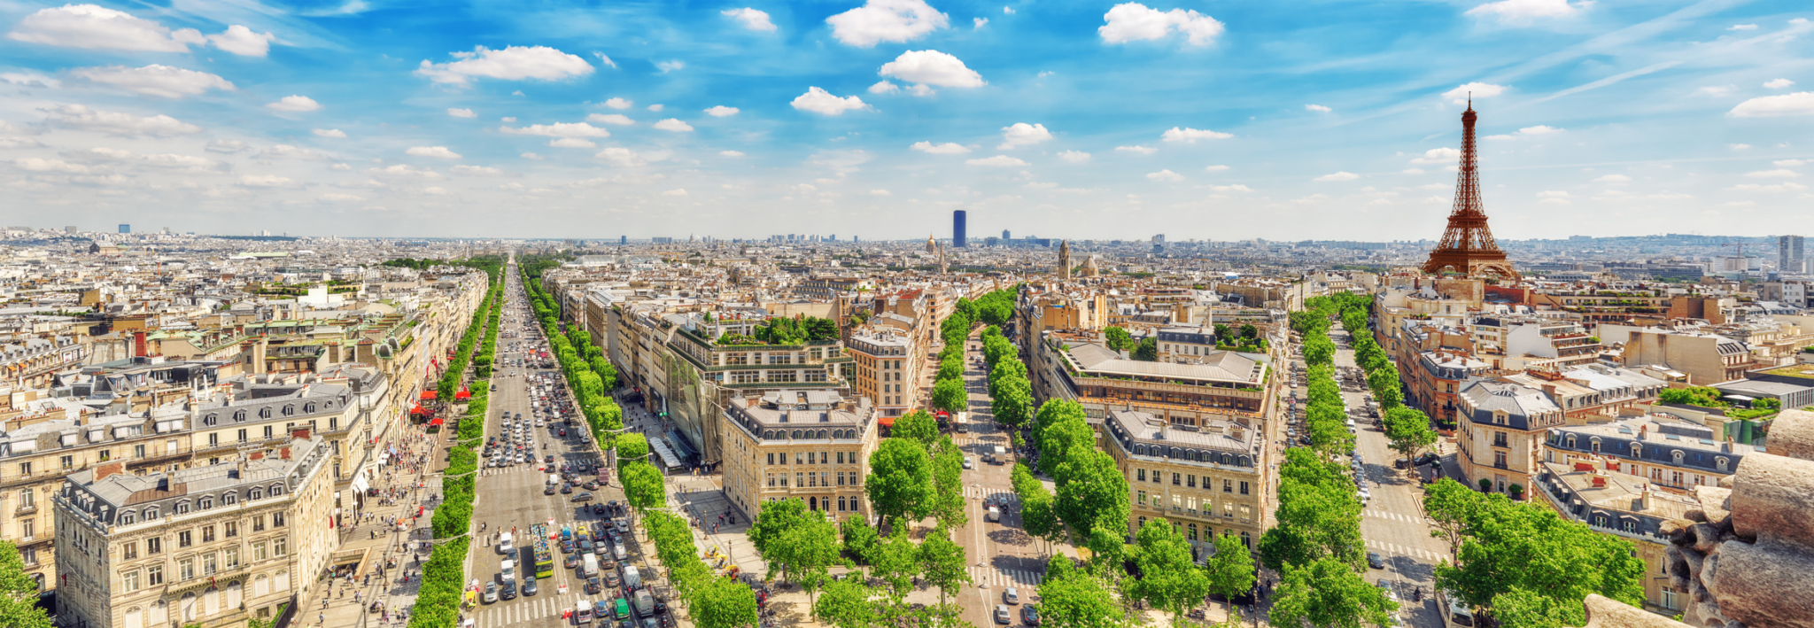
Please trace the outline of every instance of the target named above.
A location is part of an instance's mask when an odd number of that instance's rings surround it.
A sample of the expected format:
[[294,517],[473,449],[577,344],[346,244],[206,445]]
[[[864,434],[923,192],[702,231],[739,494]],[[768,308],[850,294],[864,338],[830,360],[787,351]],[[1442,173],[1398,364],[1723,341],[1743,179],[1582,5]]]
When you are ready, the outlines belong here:
[[[334,552],[336,564],[345,564],[348,557],[357,559],[350,572],[352,579],[343,575],[310,583],[305,599],[314,603],[297,610],[299,626],[403,626],[405,619],[397,610],[415,604],[421,563],[405,548],[412,541],[428,539],[434,503],[424,499],[441,494],[437,474],[446,468],[444,446],[452,430],[424,434],[421,427],[408,423],[397,430],[401,437],[392,437],[385,445],[397,446],[399,456],[392,457],[394,465],[374,468],[372,488],[377,488],[379,496],[365,497],[365,508],[356,512],[357,519],[343,525],[341,546]],[[397,459],[403,463],[395,463]],[[423,486],[415,488],[417,483]],[[392,503],[385,505],[386,499]],[[417,506],[423,508],[419,517],[415,517]],[[403,521],[410,532],[397,532],[395,521]],[[423,561],[428,559],[426,550],[419,555]],[[397,561],[397,568],[385,568],[390,559]],[[412,575],[410,583],[399,584],[397,577],[405,572]],[[366,612],[374,599],[385,601],[385,613]]]

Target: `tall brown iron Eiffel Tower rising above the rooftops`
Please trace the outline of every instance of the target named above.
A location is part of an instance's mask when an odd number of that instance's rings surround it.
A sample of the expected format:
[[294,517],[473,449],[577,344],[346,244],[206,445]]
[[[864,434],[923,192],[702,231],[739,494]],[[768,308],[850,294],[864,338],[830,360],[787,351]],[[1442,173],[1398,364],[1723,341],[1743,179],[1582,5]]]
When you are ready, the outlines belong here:
[[1498,276],[1518,280],[1518,270],[1511,269],[1506,252],[1493,241],[1493,229],[1486,225],[1486,211],[1480,201],[1480,162],[1475,156],[1473,125],[1480,116],[1473,111],[1473,98],[1462,113],[1462,172],[1455,180],[1455,209],[1449,212],[1449,229],[1442,232],[1442,243],[1429,252],[1424,272],[1460,272],[1466,276]]

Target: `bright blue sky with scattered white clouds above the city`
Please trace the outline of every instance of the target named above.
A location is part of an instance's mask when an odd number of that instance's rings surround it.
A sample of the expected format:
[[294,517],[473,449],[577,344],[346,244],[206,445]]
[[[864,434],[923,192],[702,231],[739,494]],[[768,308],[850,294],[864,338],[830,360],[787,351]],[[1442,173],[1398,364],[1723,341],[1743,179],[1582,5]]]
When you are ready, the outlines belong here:
[[1814,232],[1807,2],[0,0],[9,225]]

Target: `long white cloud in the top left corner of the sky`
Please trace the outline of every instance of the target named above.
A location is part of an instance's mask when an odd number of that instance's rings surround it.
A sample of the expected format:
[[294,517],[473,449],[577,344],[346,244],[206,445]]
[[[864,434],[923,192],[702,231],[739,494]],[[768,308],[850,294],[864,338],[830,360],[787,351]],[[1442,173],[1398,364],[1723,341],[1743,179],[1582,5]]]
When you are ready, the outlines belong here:
[[187,53],[189,44],[203,44],[201,31],[171,31],[158,22],[93,4],[65,4],[40,9],[18,20],[9,40],[116,51]]

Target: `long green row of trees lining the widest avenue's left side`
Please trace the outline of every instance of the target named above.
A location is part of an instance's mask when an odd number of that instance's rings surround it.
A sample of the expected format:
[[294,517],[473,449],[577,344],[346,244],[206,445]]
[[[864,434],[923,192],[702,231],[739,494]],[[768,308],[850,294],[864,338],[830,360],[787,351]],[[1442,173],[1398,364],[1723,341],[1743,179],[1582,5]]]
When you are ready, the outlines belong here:
[[[448,363],[448,376],[459,379],[466,370],[466,356],[472,345],[483,338],[484,352],[497,341],[499,319],[502,314],[501,274],[486,272],[490,289],[484,305],[472,318],[472,327],[461,336],[459,352]],[[466,588],[466,550],[472,546],[472,501],[477,488],[479,441],[484,439],[484,416],[490,401],[486,374],[473,379],[472,397],[466,401],[466,417],[459,421],[457,441],[448,448],[448,466],[441,477],[441,505],[428,519],[430,532],[439,543],[423,564],[423,586],[417,592],[415,612],[410,613],[410,628],[452,626],[459,623],[461,597]],[[443,399],[452,399],[452,392],[443,378]]]

